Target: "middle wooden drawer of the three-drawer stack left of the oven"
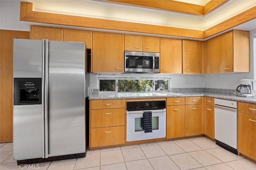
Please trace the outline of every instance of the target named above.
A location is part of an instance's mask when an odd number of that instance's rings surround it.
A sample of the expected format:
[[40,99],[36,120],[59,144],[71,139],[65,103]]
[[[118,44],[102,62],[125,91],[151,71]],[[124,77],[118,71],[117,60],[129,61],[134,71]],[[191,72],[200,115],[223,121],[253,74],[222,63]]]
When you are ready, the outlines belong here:
[[91,110],[91,128],[124,126],[124,117],[124,108]]

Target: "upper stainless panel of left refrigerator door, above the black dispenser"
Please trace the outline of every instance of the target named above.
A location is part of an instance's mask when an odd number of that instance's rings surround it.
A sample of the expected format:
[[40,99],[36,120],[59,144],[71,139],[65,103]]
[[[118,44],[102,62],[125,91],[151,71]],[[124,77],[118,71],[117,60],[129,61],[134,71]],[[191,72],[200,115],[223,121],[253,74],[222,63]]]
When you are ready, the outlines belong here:
[[42,40],[14,39],[14,78],[42,78]]

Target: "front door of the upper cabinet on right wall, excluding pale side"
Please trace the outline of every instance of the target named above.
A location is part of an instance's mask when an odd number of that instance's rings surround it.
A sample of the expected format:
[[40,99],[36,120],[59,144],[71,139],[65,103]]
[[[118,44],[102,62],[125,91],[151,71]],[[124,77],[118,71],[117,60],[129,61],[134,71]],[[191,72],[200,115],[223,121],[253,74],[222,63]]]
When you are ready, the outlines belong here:
[[233,34],[228,32],[206,41],[206,73],[233,71]]

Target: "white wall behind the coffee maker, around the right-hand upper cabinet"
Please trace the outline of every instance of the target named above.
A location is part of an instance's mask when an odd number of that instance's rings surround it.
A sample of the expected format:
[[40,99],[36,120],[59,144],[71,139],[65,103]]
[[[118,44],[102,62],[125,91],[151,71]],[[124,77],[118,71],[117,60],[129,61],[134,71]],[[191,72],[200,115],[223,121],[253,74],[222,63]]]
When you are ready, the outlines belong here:
[[204,75],[204,87],[216,89],[236,89],[240,79],[256,79],[256,40],[250,31],[250,73],[226,73]]

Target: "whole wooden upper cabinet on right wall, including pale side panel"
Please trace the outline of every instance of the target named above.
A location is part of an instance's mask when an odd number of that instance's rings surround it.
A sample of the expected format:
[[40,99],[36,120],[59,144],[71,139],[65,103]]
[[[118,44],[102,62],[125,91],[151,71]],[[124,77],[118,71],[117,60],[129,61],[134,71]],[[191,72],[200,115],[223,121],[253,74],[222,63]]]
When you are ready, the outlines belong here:
[[233,30],[206,41],[206,73],[250,72],[250,33]]

